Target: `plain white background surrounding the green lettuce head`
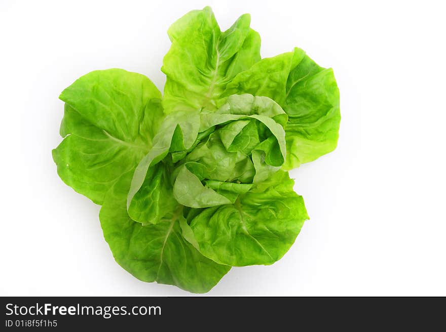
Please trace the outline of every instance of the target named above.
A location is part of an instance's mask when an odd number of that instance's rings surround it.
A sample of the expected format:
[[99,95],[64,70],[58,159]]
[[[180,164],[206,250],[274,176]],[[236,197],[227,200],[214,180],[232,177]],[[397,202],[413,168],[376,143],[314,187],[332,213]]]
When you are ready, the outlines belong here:
[[[417,4],[418,3],[418,4]],[[51,149],[79,76],[120,67],[163,89],[166,31],[210,5],[243,13],[262,56],[304,49],[341,91],[338,149],[291,172],[311,217],[272,266],[233,268],[209,295],[446,295],[446,52],[441,2],[0,2],[0,295],[188,296],[115,263],[99,206]]]

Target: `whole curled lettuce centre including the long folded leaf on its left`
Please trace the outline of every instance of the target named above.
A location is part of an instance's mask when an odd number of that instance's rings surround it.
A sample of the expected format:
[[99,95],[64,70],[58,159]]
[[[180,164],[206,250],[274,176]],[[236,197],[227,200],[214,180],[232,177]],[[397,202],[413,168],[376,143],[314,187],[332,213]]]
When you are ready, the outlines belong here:
[[[286,120],[273,100],[247,94],[228,98],[215,112],[168,114],[153,148],[135,170],[127,198],[129,216],[144,225],[158,223],[168,212],[165,206],[172,206],[170,196],[191,208],[233,203],[240,192],[249,189],[240,184],[263,181],[280,169],[286,153]],[[238,124],[232,126],[235,122]],[[249,122],[253,125],[248,133],[253,129],[257,133],[255,144],[248,144],[256,151],[255,160],[242,144]],[[166,176],[152,179],[152,169],[160,161],[164,168],[174,168],[170,181]],[[234,184],[215,187],[213,181]]]

